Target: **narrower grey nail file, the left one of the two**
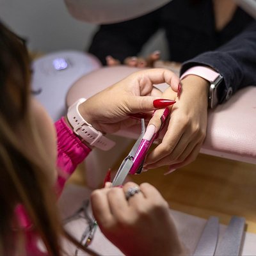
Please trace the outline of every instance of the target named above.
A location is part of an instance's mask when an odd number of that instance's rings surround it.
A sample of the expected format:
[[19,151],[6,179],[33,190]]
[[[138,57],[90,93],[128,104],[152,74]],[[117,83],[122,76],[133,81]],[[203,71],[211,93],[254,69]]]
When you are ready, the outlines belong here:
[[213,256],[218,243],[219,218],[211,216],[196,246],[194,256]]

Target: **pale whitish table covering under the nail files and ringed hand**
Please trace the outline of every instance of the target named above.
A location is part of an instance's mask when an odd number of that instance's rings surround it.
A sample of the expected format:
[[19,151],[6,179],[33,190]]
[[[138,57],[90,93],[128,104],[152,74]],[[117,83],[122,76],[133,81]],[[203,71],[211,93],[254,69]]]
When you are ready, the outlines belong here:
[[[79,207],[83,200],[88,198],[90,195],[90,189],[83,188],[81,186],[76,186],[69,184],[63,191],[63,195],[60,198],[60,211],[63,218],[70,216],[74,213]],[[207,220],[185,214],[179,211],[170,210],[173,219],[175,220],[179,236],[186,246],[189,248],[190,252],[195,251],[196,244],[200,238],[202,231]],[[81,234],[86,228],[86,221],[79,219],[68,223],[66,226],[67,230],[73,234],[77,239],[81,238]],[[223,236],[227,226],[220,225],[219,237]],[[241,250],[241,255],[256,255],[256,234],[245,233],[243,248]],[[65,249],[68,253],[74,255],[75,248],[72,244],[67,242],[63,243]],[[100,253],[101,255],[122,255],[120,250],[116,248],[112,243],[106,239],[97,228],[97,232],[93,239],[90,248]],[[79,251],[79,255],[85,255]]]

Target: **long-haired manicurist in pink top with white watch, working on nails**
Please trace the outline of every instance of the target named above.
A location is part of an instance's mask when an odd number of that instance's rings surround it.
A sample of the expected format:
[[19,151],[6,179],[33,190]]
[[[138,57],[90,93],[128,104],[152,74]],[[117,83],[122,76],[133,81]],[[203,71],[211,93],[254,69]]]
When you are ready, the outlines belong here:
[[[77,164],[93,147],[103,147],[98,140],[78,136],[73,125],[76,121],[70,115],[87,121],[79,129],[91,131],[93,127],[99,141],[110,145],[102,132],[136,124],[138,120],[131,118],[132,114],[163,111],[166,99],[159,98],[161,94],[153,84],[172,84],[176,94],[179,77],[164,69],[136,72],[77,103],[73,112],[68,111],[53,124],[31,94],[24,41],[1,22],[0,72],[0,254],[65,255],[61,238],[66,237],[84,252],[97,255],[63,229],[56,207],[57,195]],[[167,102],[172,108],[173,100]],[[157,131],[159,124],[150,122]],[[130,188],[136,188],[137,193],[127,198]],[[186,249],[177,236],[168,204],[150,184],[129,182],[122,188],[106,184],[106,188],[92,193],[91,200],[102,232],[126,255],[184,254]]]

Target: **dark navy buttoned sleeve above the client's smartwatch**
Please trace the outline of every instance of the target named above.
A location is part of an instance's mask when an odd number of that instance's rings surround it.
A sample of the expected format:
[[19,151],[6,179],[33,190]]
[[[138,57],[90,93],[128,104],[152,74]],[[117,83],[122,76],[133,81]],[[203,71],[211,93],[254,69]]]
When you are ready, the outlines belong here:
[[233,93],[239,88],[256,85],[256,21],[216,51],[204,52],[182,64],[180,75],[188,68],[207,65],[223,76],[220,103],[225,100],[228,88]]

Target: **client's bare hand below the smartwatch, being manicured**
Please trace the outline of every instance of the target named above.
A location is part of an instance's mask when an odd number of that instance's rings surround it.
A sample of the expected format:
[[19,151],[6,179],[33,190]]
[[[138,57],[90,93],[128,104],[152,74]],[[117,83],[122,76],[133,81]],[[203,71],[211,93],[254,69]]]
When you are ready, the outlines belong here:
[[[169,165],[170,171],[191,163],[196,159],[204,142],[207,128],[207,95],[209,82],[198,76],[182,79],[182,92],[179,99],[168,88],[163,97],[175,99],[168,130],[163,141],[148,154],[145,168],[152,169]],[[157,115],[161,110],[157,110]],[[151,120],[150,122],[153,122]]]

